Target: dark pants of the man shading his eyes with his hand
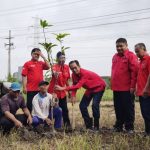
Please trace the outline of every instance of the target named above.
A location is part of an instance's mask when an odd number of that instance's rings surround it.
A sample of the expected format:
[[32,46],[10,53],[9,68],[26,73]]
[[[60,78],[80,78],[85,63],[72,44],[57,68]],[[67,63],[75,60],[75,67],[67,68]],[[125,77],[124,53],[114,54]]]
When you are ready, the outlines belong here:
[[28,91],[27,92],[27,107],[30,112],[32,112],[32,100],[36,94],[38,94],[39,91]]

